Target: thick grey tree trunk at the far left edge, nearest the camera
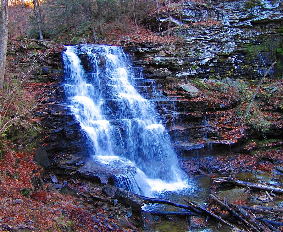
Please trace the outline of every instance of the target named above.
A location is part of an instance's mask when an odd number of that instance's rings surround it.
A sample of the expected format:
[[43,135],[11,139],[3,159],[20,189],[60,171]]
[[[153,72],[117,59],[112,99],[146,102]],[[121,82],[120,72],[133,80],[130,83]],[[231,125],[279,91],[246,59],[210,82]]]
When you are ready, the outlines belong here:
[[0,20],[0,89],[3,89],[8,43],[8,0],[1,0]]

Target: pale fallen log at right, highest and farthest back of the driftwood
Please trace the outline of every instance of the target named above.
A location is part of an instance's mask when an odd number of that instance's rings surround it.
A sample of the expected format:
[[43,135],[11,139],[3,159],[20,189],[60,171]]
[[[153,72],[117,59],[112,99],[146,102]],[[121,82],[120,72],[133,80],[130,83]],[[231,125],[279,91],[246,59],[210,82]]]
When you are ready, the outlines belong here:
[[262,184],[255,184],[251,182],[246,182],[246,181],[239,181],[234,177],[220,177],[217,179],[213,179],[215,183],[229,183],[229,184],[234,184],[236,186],[241,186],[241,187],[249,187],[249,188],[255,188],[255,189],[260,189],[260,190],[266,190],[266,191],[273,191],[275,193],[283,194],[283,188],[278,188],[278,187],[273,187],[273,186],[268,186],[268,185],[262,185]]

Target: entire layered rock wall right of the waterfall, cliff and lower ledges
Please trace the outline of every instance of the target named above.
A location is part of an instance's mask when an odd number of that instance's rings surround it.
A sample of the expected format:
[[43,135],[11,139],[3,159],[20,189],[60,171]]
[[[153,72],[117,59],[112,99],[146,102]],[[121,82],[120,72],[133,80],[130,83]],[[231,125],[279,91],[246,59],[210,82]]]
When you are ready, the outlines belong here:
[[[189,174],[196,173],[198,165],[188,159],[226,151],[252,151],[240,149],[247,138],[258,138],[241,125],[236,114],[241,102],[237,93],[243,90],[240,81],[258,78],[251,67],[263,67],[259,72],[265,73],[274,62],[274,51],[282,47],[282,4],[278,1],[209,2],[173,3],[147,15],[144,25],[149,29],[159,35],[161,25],[166,35],[176,36],[176,51],[163,45],[127,48],[136,58],[134,64],[143,68],[144,77],[156,79],[162,85],[168,100],[156,101],[156,107],[178,154],[187,158],[182,160],[182,166]],[[280,54],[276,56],[282,60]],[[164,68],[168,72],[159,71]],[[275,66],[267,78],[281,73],[281,68]],[[199,92],[193,96],[180,88],[186,85],[195,85]],[[276,87],[268,90],[276,92]],[[261,104],[281,112],[280,106],[264,100]],[[265,136],[282,135],[281,126],[274,126]],[[209,144],[213,144],[213,152],[207,149]],[[204,171],[225,172],[225,164],[217,159],[211,165],[209,160],[204,163]],[[251,170],[251,165],[236,169]]]

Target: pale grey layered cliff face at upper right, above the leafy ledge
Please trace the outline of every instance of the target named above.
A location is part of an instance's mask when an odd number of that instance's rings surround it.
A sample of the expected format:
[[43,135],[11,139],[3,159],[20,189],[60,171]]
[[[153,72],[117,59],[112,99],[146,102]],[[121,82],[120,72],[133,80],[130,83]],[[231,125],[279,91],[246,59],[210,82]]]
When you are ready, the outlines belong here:
[[282,46],[281,11],[282,4],[275,0],[173,3],[147,15],[144,25],[159,33],[161,24],[166,35],[178,36],[180,41],[175,42],[180,43],[179,49],[172,52],[166,46],[139,48],[135,51],[139,59],[136,64],[168,66],[176,70],[171,76],[182,79],[194,75],[255,77],[257,74],[245,65],[263,65],[258,51],[264,53],[266,66],[270,65],[274,59],[272,51]]

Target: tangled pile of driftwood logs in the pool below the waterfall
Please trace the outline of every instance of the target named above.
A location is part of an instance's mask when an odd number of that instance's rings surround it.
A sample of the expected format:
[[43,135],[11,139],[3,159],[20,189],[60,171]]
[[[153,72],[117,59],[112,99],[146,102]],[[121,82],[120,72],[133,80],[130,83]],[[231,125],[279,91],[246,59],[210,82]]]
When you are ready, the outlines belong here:
[[[273,191],[276,193],[283,193],[283,189],[281,188],[266,186],[266,185],[261,185],[261,184],[254,184],[254,183],[245,182],[245,181],[239,181],[234,177],[221,177],[218,179],[212,178],[212,184],[215,184],[215,183],[221,183],[221,184],[229,183],[232,185],[237,185],[237,186],[242,186],[242,187],[248,186],[251,189],[255,188],[255,189],[260,189],[264,191]],[[173,202],[173,201],[162,199],[162,198],[151,198],[151,197],[144,197],[144,196],[140,196],[136,194],[135,195],[140,197],[143,200],[143,202],[146,204],[149,204],[149,203],[167,204],[167,205],[175,206],[177,208],[183,208],[183,209],[188,210],[188,211],[181,211],[181,212],[180,211],[179,212],[174,212],[174,211],[152,211],[150,212],[151,214],[155,214],[155,215],[196,216],[198,214],[202,214],[202,215],[213,217],[214,219],[220,221],[221,223],[229,226],[230,228],[236,229],[238,231],[240,231],[241,229],[236,227],[236,225],[234,225],[235,223],[241,226],[242,229],[245,229],[245,231],[255,231],[255,232],[261,232],[261,231],[268,232],[271,230],[277,232],[278,229],[276,229],[276,227],[283,225],[283,223],[269,220],[270,217],[269,219],[267,219],[265,218],[266,216],[262,216],[262,215],[271,215],[272,219],[278,218],[276,215],[278,213],[283,213],[283,208],[281,207],[262,207],[262,206],[249,207],[249,206],[243,206],[243,205],[234,205],[234,204],[225,202],[220,197],[218,197],[215,192],[216,191],[215,187],[212,188],[211,190],[214,190],[214,191],[210,191],[210,195],[209,195],[210,199],[216,202],[219,205],[219,207],[224,208],[231,215],[233,215],[232,218],[230,217],[227,219],[232,224],[230,224],[229,222],[227,222],[220,216],[216,215],[215,213],[211,212],[209,208],[206,208],[203,204],[199,202],[194,202],[194,201],[190,202],[184,199],[184,201],[187,202],[187,205],[186,205],[186,204],[177,203],[177,202]],[[254,213],[257,215],[255,215]]]

